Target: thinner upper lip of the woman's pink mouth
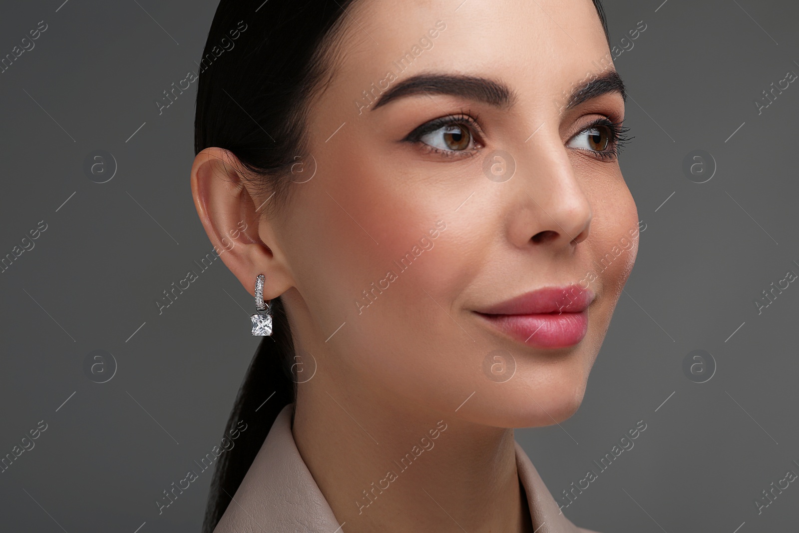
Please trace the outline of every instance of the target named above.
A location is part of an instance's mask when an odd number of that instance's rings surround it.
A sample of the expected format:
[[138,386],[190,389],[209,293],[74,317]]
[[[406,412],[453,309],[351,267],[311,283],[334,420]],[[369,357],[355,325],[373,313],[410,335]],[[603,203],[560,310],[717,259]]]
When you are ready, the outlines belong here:
[[551,312],[582,312],[594,300],[590,288],[576,284],[544,287],[525,292],[499,304],[492,304],[478,312],[484,315],[533,315]]

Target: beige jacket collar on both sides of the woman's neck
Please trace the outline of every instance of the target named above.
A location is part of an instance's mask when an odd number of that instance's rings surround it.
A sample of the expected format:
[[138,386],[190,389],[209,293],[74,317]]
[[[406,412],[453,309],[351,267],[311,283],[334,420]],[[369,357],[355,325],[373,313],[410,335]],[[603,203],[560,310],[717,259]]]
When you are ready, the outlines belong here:
[[[233,501],[213,533],[338,533],[333,511],[300,456],[292,435],[294,404],[277,416]],[[535,533],[597,533],[574,526],[516,443],[519,471]]]

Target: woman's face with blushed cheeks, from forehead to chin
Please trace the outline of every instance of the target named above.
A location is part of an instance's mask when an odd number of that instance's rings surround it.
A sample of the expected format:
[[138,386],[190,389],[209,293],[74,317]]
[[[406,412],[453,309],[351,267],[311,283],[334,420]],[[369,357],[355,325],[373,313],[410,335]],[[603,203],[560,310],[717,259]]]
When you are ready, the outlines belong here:
[[[599,83],[567,106],[613,70],[593,3],[358,2],[345,17],[309,109],[316,173],[271,222],[298,351],[320,383],[392,408],[566,419],[638,250],[613,129],[595,125],[623,120],[622,95]],[[446,79],[385,99],[421,75]],[[539,296],[547,309],[500,305],[570,284]]]

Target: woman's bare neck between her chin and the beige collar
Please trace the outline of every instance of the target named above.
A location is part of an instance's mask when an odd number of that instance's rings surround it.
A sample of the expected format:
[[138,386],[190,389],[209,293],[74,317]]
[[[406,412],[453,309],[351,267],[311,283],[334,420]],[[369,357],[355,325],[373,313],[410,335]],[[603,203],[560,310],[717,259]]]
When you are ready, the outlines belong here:
[[512,429],[316,377],[292,433],[344,531],[532,531]]

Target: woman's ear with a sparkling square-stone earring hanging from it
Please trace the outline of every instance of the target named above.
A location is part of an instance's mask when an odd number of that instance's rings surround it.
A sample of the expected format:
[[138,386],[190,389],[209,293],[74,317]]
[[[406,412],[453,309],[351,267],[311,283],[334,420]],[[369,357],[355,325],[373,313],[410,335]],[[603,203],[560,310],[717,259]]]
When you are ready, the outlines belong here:
[[264,300],[271,300],[294,282],[272,221],[260,217],[265,202],[256,203],[251,190],[255,188],[246,186],[240,168],[228,150],[206,148],[198,153],[191,173],[194,206],[216,253],[233,275],[254,297],[256,276],[264,274]]

